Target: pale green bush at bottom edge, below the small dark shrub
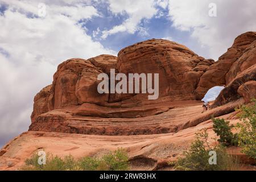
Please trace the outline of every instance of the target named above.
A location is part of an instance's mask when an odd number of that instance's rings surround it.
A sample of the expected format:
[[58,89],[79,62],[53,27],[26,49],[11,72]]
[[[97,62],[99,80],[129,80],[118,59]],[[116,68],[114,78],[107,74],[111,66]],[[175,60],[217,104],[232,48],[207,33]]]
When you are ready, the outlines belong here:
[[[217,154],[217,164],[209,164],[209,152],[215,151]],[[174,167],[181,171],[220,171],[237,170],[239,168],[238,159],[226,153],[222,145],[211,148],[208,143],[208,133],[205,129],[196,134],[195,142],[191,148],[185,151],[183,158],[179,158]]]

